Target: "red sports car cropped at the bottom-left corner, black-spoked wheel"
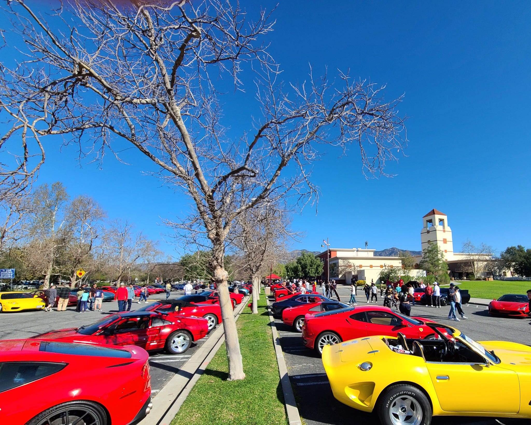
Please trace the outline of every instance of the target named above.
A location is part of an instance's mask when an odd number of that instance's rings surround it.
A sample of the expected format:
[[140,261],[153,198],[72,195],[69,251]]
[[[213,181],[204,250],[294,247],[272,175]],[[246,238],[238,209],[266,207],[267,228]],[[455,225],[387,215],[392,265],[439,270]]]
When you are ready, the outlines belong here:
[[0,341],[0,377],[5,425],[127,425],[152,407],[148,353],[134,346]]

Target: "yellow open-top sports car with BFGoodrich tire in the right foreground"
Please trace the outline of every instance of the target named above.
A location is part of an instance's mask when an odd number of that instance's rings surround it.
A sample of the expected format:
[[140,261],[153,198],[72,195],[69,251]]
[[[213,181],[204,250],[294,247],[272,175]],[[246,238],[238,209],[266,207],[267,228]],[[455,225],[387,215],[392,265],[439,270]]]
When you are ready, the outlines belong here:
[[325,346],[334,397],[375,411],[384,425],[428,425],[432,415],[531,417],[531,347],[426,326],[436,339],[398,334]]

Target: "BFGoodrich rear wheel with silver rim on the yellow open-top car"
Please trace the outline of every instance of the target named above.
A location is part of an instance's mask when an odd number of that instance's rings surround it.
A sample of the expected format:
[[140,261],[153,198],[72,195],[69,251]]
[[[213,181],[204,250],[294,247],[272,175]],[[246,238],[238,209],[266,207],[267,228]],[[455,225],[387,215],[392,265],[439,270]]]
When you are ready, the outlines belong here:
[[392,385],[378,398],[382,425],[430,425],[432,409],[426,395],[413,385]]

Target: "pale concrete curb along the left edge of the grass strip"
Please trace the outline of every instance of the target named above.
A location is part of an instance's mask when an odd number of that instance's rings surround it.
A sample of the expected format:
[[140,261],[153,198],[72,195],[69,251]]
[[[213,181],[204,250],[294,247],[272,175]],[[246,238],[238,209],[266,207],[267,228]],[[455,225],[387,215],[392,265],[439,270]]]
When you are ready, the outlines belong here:
[[[235,320],[238,319],[247,305],[249,296],[234,309]],[[209,336],[207,341],[183,367],[168,381],[168,383],[153,397],[153,409],[138,425],[168,425],[181,408],[195,383],[203,374],[219,347],[225,341],[223,325],[220,325]]]

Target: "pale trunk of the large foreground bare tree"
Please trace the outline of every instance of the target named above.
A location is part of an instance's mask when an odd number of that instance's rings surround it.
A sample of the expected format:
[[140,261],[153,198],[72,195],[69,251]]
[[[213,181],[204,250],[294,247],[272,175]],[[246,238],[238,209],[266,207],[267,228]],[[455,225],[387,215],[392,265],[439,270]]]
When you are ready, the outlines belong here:
[[[221,306],[221,319],[225,331],[225,347],[227,349],[227,360],[229,363],[229,376],[227,380],[235,381],[245,378],[243,371],[242,353],[239,350],[238,331],[234,321],[232,301],[230,300],[228,287],[228,273],[223,267],[224,246],[213,248],[213,258],[211,262],[213,281],[216,282]],[[217,255],[216,255],[217,253]]]

